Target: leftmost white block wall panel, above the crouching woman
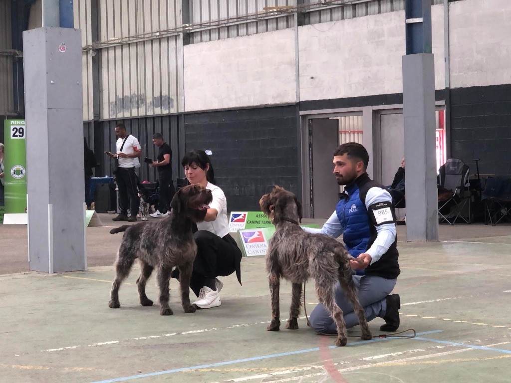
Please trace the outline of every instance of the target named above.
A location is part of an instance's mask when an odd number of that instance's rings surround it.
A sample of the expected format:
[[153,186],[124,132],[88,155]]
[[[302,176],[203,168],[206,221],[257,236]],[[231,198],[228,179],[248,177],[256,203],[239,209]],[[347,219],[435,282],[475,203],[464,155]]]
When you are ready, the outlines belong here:
[[295,100],[292,29],[184,46],[186,111]]

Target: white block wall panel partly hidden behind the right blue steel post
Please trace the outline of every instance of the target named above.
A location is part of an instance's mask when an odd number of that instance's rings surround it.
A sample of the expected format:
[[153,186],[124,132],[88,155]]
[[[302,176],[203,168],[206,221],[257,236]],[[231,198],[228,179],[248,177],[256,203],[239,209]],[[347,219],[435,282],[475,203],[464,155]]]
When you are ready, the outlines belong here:
[[[436,89],[445,88],[443,24],[443,6],[433,6]],[[298,36],[300,100],[403,91],[404,11],[304,26]]]

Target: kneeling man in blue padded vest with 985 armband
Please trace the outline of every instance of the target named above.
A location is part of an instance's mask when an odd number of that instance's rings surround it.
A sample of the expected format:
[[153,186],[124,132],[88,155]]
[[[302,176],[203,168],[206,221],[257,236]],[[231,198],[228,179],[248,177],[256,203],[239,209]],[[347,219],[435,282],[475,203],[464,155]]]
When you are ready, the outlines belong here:
[[[396,331],[401,300],[398,294],[390,295],[400,274],[396,216],[389,192],[367,175],[368,162],[369,155],[359,143],[348,142],[337,148],[334,175],[337,183],[344,185],[344,193],[321,229],[304,230],[334,238],[342,234],[346,249],[361,261],[352,260],[350,264],[367,322],[380,317],[385,320],[382,331]],[[358,325],[339,282],[335,285],[335,301],[344,313],[346,328]],[[321,303],[311,313],[310,322],[320,332],[337,333],[334,320]]]

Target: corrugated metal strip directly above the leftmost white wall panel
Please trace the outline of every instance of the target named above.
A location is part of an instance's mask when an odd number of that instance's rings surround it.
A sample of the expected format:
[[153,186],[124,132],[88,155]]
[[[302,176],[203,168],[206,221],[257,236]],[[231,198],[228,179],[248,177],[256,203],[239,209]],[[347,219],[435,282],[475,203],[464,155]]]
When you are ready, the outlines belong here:
[[[250,17],[255,13],[264,12],[265,7],[295,6],[296,0],[189,0],[190,23],[192,25],[236,18]],[[229,27],[210,27],[191,34],[191,42],[203,42],[225,39],[228,37],[253,35],[255,33],[277,31],[293,27],[293,16],[286,15],[261,21],[243,22]]]

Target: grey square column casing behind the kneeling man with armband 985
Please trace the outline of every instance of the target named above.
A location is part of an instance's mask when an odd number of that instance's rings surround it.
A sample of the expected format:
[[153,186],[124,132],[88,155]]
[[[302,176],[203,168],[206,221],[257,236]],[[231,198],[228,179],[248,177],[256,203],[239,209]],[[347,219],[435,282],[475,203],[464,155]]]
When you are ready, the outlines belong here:
[[435,67],[430,53],[403,56],[407,241],[438,240]]

